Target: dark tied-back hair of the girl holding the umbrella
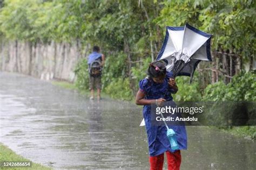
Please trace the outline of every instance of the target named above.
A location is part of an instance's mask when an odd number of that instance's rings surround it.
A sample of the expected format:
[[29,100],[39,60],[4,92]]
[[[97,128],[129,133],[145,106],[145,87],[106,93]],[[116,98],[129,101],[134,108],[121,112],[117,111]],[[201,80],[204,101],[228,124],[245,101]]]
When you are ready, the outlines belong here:
[[151,62],[149,68],[147,69],[147,75],[150,77],[159,77],[166,74],[166,61],[159,60]]

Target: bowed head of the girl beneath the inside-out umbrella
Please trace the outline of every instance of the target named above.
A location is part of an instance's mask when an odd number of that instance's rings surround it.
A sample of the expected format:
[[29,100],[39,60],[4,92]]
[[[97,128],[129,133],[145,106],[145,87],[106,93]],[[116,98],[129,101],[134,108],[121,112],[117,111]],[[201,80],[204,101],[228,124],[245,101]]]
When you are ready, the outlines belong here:
[[166,62],[165,61],[154,61],[150,63],[147,69],[147,75],[149,75],[154,82],[163,83],[166,74]]

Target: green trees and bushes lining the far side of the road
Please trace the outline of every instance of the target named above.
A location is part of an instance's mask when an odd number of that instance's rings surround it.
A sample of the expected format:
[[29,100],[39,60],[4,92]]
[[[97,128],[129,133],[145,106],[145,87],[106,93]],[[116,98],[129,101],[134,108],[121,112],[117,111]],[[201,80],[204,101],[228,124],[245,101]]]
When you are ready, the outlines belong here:
[[[199,64],[192,84],[177,77],[174,100],[255,101],[255,1],[5,0],[0,6],[0,34],[6,40],[80,44],[81,56],[87,44],[99,45],[106,55],[103,91],[122,100],[133,100],[159,52],[165,26],[188,22],[213,34],[213,62]],[[86,59],[75,73],[76,87],[87,91]]]

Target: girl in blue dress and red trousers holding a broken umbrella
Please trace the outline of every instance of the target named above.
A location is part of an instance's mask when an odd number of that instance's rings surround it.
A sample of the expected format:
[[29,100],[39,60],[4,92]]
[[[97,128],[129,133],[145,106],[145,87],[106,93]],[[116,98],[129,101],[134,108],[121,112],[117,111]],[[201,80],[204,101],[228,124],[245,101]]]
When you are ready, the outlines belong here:
[[168,169],[179,169],[181,164],[180,150],[187,148],[185,126],[169,126],[176,132],[178,150],[172,150],[166,135],[166,126],[151,125],[151,104],[163,105],[165,101],[172,101],[171,94],[178,91],[176,81],[172,79],[172,72],[166,71],[164,61],[152,62],[147,69],[147,77],[139,81],[136,104],[144,105],[147,139],[149,143],[150,169],[163,169],[164,153],[167,155]]

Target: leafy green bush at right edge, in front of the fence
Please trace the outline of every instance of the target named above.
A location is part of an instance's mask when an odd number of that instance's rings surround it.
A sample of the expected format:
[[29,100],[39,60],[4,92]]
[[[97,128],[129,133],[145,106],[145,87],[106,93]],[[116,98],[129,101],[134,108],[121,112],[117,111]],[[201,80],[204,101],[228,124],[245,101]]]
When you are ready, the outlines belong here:
[[[255,78],[255,74],[251,72],[240,73],[235,75],[232,82],[228,84],[223,82],[209,84],[204,90],[203,101],[214,101],[214,103],[205,108],[205,117],[215,124],[225,125],[223,122],[228,120],[230,122],[227,122],[226,125],[253,125],[255,117],[253,101],[255,101],[256,95]],[[225,129],[227,126],[223,128]],[[247,129],[244,128],[243,130]],[[248,133],[251,136],[255,135],[253,130],[255,129],[248,128]]]

